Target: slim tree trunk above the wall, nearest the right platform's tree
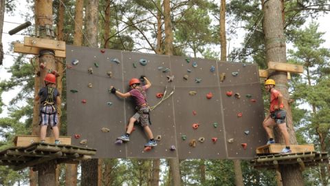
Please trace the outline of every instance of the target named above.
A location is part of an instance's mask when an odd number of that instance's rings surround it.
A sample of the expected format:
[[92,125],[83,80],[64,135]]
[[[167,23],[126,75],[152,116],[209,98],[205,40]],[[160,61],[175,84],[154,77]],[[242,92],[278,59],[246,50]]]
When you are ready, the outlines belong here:
[[221,0],[220,6],[220,61],[227,61],[227,41],[225,40],[225,0]]

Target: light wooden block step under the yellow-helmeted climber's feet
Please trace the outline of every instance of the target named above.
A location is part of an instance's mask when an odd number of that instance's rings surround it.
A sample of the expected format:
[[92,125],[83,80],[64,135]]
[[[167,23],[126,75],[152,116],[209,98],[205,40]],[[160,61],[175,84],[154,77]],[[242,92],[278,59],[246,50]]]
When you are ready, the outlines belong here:
[[[285,145],[281,145],[278,143],[270,144],[270,145],[263,145],[261,147],[256,148],[256,154],[279,154],[281,153],[282,149]],[[299,152],[314,152],[314,145],[307,144],[307,145],[290,145],[290,149],[292,153],[299,153]]]

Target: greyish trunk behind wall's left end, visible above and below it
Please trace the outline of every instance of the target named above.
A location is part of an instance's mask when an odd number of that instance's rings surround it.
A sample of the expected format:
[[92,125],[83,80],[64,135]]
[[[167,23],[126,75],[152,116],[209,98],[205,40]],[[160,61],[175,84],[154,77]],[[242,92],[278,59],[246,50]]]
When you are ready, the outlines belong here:
[[[86,45],[98,48],[98,0],[87,1],[86,6]],[[81,185],[98,185],[98,159],[81,161]]]

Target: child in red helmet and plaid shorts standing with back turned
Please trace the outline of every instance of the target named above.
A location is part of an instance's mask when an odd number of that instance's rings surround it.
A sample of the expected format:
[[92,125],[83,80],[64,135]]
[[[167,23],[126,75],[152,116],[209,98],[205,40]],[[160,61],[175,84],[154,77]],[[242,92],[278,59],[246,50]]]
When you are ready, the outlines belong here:
[[47,74],[44,80],[45,87],[42,87],[34,98],[35,101],[40,100],[40,138],[41,142],[45,142],[47,127],[50,126],[54,133],[55,144],[60,144],[57,114],[61,108],[61,98],[60,93],[56,89],[56,76]]

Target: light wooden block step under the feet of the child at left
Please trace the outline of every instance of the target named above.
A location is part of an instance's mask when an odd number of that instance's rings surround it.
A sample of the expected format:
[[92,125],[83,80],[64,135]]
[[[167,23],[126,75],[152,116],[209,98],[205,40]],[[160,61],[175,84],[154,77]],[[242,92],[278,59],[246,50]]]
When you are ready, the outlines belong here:
[[[45,138],[45,143],[54,143],[54,141],[54,137]],[[63,145],[71,145],[70,136],[60,136],[60,141]],[[40,142],[39,136],[20,135],[14,138],[14,145],[17,147],[28,146],[35,142]]]

